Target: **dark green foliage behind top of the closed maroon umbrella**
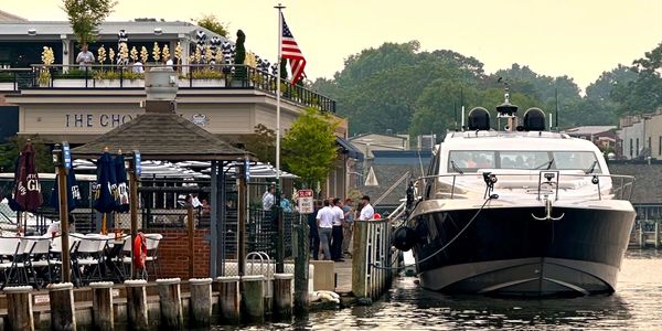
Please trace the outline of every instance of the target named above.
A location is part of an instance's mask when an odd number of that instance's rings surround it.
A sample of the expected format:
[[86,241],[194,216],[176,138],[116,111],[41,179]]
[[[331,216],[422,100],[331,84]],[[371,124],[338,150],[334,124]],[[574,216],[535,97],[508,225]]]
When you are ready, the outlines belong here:
[[39,172],[53,172],[53,157],[51,149],[44,143],[44,140],[39,136],[23,137],[14,136],[7,139],[6,143],[0,145],[0,171],[13,172],[14,162],[19,157],[19,152],[30,139],[35,151],[35,166]]

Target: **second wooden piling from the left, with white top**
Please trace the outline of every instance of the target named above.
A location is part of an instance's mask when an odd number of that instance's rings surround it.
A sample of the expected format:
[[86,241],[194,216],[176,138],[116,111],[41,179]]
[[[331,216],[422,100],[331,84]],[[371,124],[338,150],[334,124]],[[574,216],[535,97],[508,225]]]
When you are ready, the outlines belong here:
[[56,331],[76,330],[76,308],[74,307],[74,285],[71,282],[51,284],[51,329]]

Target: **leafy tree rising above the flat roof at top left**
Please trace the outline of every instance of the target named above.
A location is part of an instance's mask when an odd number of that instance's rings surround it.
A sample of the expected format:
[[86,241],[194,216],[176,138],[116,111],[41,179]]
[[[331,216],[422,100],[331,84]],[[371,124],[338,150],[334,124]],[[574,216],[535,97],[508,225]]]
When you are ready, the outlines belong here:
[[81,45],[96,40],[99,25],[108,18],[115,0],[62,0],[74,34]]

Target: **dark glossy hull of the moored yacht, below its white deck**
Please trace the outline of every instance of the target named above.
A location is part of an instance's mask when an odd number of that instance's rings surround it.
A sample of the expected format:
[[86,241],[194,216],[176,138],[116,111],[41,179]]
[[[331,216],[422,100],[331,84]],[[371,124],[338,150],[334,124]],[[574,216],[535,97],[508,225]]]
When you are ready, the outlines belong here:
[[478,210],[429,211],[414,218],[423,287],[505,296],[615,291],[634,223],[631,205],[554,207],[554,217],[563,214],[557,221],[534,218],[545,214],[541,206],[485,207],[477,215]]

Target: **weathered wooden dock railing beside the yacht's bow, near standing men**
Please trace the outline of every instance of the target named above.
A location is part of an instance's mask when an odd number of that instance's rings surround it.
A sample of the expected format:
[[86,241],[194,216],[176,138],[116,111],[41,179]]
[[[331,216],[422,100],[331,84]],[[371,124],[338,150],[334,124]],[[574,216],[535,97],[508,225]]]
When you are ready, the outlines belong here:
[[359,299],[378,299],[391,286],[398,255],[391,246],[391,220],[354,221],[352,292]]

